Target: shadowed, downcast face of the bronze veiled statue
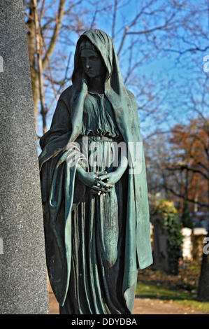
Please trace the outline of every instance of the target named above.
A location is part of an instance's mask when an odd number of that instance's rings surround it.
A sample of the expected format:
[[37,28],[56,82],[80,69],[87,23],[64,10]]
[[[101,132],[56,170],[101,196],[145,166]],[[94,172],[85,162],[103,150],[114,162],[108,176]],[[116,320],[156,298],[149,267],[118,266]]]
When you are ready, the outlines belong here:
[[89,48],[82,49],[80,59],[82,68],[89,78],[102,77],[106,71],[101,55],[96,50]]

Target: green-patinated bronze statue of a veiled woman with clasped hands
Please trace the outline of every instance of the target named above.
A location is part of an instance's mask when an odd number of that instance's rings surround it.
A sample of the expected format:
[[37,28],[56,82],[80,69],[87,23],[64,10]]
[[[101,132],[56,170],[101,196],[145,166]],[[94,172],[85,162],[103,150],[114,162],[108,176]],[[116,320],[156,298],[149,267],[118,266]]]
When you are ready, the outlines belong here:
[[152,263],[145,160],[105,32],[80,36],[72,80],[40,141],[50,283],[60,314],[131,314],[138,269]]

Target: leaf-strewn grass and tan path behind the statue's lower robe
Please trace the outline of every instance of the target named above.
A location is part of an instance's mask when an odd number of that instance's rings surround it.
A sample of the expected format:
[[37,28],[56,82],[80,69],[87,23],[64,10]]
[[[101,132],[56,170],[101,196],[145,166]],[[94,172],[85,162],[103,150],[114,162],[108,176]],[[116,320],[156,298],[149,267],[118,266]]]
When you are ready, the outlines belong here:
[[[209,314],[209,301],[197,300],[201,260],[180,262],[178,275],[150,266],[138,272],[134,314]],[[50,314],[59,306],[50,289]]]

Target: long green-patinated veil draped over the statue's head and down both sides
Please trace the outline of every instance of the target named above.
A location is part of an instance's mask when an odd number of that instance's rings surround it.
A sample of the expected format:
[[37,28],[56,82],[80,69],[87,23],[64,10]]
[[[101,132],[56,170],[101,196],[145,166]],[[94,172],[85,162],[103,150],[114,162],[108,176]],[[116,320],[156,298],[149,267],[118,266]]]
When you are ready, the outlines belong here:
[[129,149],[129,174],[124,191],[127,194],[124,271],[121,278],[122,296],[131,313],[137,269],[152,264],[145,159],[135,97],[124,86],[112,39],[99,29],[89,29],[80,36],[75,50],[73,85],[59,97],[50,130],[40,141],[42,153],[39,164],[48,274],[59,304],[64,305],[71,284],[71,213],[76,204],[82,201],[82,193],[79,194],[80,200],[76,200],[76,190],[83,189],[75,179],[78,161],[71,167],[66,165],[66,158],[73,154],[73,142],[81,131],[80,127],[72,134],[71,113],[81,84],[79,47],[83,38],[89,39],[106,65],[104,94]]

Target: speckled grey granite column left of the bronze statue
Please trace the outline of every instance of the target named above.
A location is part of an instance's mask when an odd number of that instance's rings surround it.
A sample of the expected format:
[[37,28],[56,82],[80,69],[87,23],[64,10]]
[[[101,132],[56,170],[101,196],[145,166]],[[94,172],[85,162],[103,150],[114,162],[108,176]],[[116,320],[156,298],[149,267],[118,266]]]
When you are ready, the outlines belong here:
[[41,192],[22,3],[0,3],[0,314],[47,314]]

